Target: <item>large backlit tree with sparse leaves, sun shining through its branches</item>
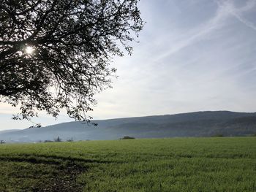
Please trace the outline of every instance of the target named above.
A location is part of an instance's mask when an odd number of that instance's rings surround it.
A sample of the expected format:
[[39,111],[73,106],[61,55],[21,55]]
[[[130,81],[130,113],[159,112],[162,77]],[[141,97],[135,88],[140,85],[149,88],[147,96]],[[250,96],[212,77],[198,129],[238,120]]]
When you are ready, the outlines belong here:
[[[113,56],[132,53],[143,20],[138,0],[3,0],[0,4],[0,101],[15,119],[61,109],[75,120],[109,88]],[[136,36],[135,36],[136,35]]]

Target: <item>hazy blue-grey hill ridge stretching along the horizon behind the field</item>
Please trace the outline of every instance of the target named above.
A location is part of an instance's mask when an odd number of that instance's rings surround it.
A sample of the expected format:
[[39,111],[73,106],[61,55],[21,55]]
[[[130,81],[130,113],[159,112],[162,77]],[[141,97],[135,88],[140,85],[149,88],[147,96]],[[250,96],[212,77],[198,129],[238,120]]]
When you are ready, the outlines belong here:
[[60,123],[42,128],[0,131],[6,142],[161,137],[246,136],[256,134],[255,112],[206,111],[176,115],[94,120],[98,126],[81,122]]

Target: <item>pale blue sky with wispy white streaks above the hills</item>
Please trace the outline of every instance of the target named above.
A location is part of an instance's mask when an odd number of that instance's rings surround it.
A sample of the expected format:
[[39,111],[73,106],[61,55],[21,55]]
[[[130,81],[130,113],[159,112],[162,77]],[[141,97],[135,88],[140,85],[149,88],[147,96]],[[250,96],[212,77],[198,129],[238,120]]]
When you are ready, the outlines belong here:
[[[206,110],[256,112],[256,0],[140,0],[146,21],[131,56],[114,58],[113,88],[95,96],[94,119]],[[27,128],[0,104],[0,131]],[[48,126],[72,121],[64,112]]]

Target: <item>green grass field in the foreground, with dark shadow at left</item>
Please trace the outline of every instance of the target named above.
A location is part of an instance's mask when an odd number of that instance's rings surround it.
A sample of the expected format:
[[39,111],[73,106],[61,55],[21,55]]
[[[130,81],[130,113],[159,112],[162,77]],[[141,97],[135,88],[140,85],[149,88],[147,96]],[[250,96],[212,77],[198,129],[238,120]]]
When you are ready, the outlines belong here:
[[256,137],[0,145],[0,191],[256,191]]

